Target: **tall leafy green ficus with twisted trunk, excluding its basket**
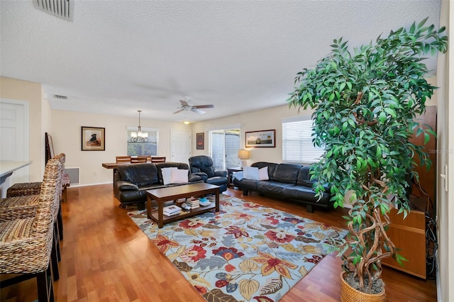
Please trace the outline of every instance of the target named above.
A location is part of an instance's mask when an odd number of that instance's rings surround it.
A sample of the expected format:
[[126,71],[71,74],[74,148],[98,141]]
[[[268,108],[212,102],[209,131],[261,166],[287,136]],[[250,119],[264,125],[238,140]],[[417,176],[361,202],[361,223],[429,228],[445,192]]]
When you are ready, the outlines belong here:
[[[436,88],[424,78],[428,69],[421,56],[446,52],[448,37],[444,27],[436,30],[426,26],[426,20],[353,52],[342,38],[334,40],[329,55],[297,74],[297,87],[287,99],[290,107],[314,109],[313,142],[325,148],[311,168],[317,194],[322,194],[323,184],[330,184],[336,208],[352,193],[345,217],[349,235],[335,250],[343,259],[343,271],[352,273],[365,293],[382,283],[384,257],[402,264],[386,234],[388,213],[394,206],[404,216],[409,211],[406,177],[418,177],[414,158],[431,164],[409,138],[414,131],[426,141],[436,135],[415,121]],[[384,290],[378,292],[384,296]]]

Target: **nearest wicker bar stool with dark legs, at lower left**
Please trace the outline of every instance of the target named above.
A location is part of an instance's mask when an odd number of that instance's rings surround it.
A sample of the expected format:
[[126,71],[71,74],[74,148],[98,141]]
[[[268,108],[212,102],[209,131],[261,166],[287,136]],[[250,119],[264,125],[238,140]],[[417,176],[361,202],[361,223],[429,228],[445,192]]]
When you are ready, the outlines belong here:
[[46,164],[35,216],[23,212],[23,217],[0,220],[0,274],[21,274],[2,280],[0,288],[36,278],[38,301],[54,301],[50,254],[55,205],[60,200],[61,165],[56,159]]

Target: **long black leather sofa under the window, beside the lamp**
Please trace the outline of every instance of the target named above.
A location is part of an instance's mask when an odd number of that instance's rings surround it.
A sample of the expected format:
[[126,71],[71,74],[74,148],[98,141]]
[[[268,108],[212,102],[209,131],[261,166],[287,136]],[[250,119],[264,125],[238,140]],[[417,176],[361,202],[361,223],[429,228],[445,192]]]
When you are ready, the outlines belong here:
[[331,194],[328,186],[320,200],[315,196],[312,189],[309,166],[301,164],[275,164],[272,162],[255,162],[251,167],[259,169],[267,167],[268,180],[254,179],[237,179],[233,177],[233,185],[243,190],[243,195],[248,195],[249,191],[255,191],[259,194],[271,195],[279,198],[298,201],[306,205],[306,211],[314,212],[314,206],[323,208],[333,208],[330,201]]

